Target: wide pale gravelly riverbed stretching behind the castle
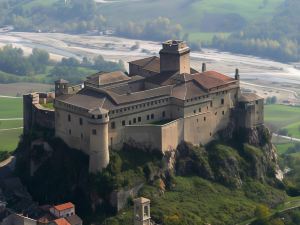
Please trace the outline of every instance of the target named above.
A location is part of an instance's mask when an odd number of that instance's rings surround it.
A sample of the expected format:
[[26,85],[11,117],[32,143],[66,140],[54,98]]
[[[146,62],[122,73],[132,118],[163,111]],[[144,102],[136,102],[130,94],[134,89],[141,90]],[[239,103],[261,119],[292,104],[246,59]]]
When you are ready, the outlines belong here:
[[[139,43],[140,48],[131,51],[130,48]],[[51,58],[60,60],[62,57],[78,59],[102,55],[111,61],[131,60],[155,55],[161,48],[159,42],[132,40],[112,36],[69,35],[61,33],[28,33],[9,32],[0,34],[0,45],[12,44],[20,47],[26,54],[38,47],[51,53]],[[242,80],[261,80],[267,83],[300,84],[300,70],[293,64],[280,63],[248,55],[238,55],[220,52],[214,49],[203,49],[191,53],[191,65],[201,68],[207,63],[209,70],[216,70],[230,76],[236,68],[241,71]]]

